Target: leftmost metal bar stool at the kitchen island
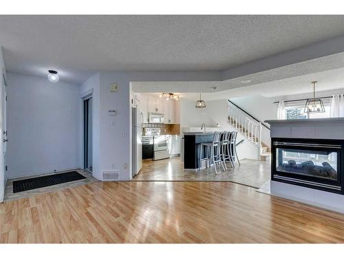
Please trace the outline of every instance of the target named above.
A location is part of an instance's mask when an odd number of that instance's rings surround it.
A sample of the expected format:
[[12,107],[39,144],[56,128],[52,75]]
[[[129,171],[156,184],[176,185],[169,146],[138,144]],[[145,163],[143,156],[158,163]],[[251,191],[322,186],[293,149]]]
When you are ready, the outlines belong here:
[[[213,137],[213,142],[202,142],[201,143],[201,151],[200,151],[200,165],[202,166],[202,160],[207,160],[209,163],[214,164],[214,169],[215,169],[215,174],[217,174],[217,169],[216,165],[221,164],[222,169],[224,169],[224,164],[222,164],[222,160],[220,157],[220,136],[221,132],[215,131],[214,137]],[[202,148],[206,147],[206,157],[202,158]],[[208,167],[208,166],[206,166]]]

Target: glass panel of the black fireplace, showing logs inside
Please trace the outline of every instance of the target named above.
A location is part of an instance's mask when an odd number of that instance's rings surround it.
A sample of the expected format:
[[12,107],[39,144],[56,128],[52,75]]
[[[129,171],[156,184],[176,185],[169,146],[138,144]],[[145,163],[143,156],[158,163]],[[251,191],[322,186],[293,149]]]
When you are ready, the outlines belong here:
[[310,151],[302,149],[276,149],[276,170],[308,175],[315,178],[337,180],[336,151]]

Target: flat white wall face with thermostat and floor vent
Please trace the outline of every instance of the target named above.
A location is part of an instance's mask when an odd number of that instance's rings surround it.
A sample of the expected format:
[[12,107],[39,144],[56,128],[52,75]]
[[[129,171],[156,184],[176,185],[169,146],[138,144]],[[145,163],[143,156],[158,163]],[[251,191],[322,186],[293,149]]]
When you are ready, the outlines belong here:
[[[111,83],[118,91],[110,92]],[[131,105],[129,76],[121,72],[100,72],[100,171],[118,170],[120,180],[130,180]],[[109,116],[109,110],[116,116]]]

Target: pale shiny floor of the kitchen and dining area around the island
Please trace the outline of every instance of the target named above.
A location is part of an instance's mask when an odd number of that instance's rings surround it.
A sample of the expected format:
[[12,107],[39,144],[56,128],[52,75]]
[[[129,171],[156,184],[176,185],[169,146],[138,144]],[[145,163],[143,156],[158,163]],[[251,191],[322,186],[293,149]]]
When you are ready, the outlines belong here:
[[180,157],[165,160],[144,160],[142,169],[133,180],[137,181],[224,181],[236,182],[246,186],[260,188],[270,180],[270,161],[240,160],[234,168],[227,164],[228,170],[218,167],[217,175],[213,167],[201,171],[184,171]]

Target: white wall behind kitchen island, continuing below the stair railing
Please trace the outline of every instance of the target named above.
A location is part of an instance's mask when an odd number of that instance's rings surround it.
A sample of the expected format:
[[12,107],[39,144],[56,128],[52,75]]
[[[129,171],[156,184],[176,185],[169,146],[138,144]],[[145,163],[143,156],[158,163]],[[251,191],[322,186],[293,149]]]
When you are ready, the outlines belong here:
[[[206,101],[203,109],[195,108],[195,101],[180,99],[180,127],[201,127],[202,123],[206,127],[216,127],[219,124],[219,131],[234,131],[227,119],[228,104],[227,99]],[[242,144],[237,146],[239,160],[248,158],[257,160],[259,158],[258,148],[241,134],[237,135],[237,142],[244,139]]]

